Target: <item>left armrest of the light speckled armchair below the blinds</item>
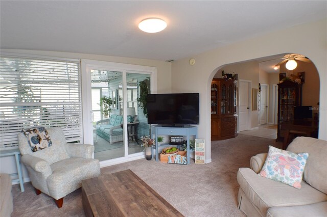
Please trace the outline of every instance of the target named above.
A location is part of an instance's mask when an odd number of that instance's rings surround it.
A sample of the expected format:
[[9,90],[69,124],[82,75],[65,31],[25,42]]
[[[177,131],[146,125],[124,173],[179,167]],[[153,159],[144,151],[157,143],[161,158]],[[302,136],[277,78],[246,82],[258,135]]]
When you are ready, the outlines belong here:
[[39,157],[24,154],[21,156],[21,161],[25,166],[32,168],[36,172],[42,173],[44,177],[48,177],[52,174],[49,162]]

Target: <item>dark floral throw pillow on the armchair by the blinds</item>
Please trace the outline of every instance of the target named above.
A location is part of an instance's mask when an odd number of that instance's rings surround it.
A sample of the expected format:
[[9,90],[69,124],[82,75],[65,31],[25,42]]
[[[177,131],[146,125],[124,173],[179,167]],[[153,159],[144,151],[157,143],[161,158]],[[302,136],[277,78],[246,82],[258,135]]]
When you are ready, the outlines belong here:
[[44,127],[33,127],[21,131],[24,132],[33,152],[52,146],[50,135]]

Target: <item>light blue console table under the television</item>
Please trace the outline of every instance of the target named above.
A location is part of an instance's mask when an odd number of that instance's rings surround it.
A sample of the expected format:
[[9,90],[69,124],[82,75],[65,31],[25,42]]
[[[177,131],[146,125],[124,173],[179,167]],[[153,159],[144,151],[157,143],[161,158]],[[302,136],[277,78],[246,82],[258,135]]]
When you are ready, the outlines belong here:
[[[167,127],[162,125],[151,126],[151,138],[155,137],[155,160],[158,161],[158,135],[183,135],[186,136],[188,141],[188,148],[186,152],[186,158],[188,164],[190,164],[190,135],[194,135],[194,139],[198,137],[198,127],[191,125],[184,125],[183,127]],[[161,144],[161,146],[169,145],[169,143]],[[153,147],[154,149],[154,147]]]

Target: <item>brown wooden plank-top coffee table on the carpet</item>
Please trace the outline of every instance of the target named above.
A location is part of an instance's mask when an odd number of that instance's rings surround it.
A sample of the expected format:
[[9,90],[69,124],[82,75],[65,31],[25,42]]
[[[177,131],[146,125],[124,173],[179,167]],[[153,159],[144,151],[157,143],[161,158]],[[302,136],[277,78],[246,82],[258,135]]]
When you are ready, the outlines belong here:
[[183,216],[131,170],[82,181],[86,216]]

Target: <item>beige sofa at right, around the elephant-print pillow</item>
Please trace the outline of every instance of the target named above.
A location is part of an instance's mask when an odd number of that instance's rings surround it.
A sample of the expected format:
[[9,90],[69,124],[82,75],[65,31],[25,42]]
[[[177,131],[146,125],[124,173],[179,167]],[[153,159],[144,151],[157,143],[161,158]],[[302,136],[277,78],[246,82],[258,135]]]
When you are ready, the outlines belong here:
[[251,169],[237,174],[239,208],[247,216],[327,216],[327,141],[298,137],[287,151],[309,153],[302,187],[259,176],[267,154],[251,157]]

